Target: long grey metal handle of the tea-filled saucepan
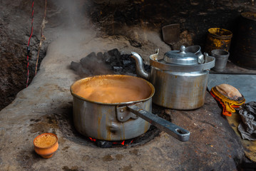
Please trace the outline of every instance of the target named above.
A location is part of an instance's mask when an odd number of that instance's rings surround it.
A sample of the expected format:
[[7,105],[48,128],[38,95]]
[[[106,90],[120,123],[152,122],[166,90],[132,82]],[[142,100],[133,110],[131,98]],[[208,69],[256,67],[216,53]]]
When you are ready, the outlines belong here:
[[150,113],[142,108],[139,108],[137,105],[128,105],[128,110],[138,115],[140,118],[147,120],[149,123],[155,125],[158,129],[163,130],[165,133],[172,135],[174,138],[180,141],[188,141],[190,138],[190,132],[184,128],[179,127],[173,123],[170,123],[168,120],[158,117],[153,113]]

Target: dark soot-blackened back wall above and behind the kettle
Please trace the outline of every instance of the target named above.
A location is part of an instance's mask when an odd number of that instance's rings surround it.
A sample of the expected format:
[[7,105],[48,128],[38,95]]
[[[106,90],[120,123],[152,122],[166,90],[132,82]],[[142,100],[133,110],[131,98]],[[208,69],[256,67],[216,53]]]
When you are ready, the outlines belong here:
[[185,33],[185,36],[181,36],[185,41],[181,43],[198,44],[204,48],[208,28],[220,27],[235,31],[235,21],[240,12],[255,11],[253,3],[241,0],[127,0],[123,3],[95,0],[86,11],[103,33],[131,36],[137,42],[135,45],[143,43],[143,36],[136,35],[131,27],[161,33],[162,26],[177,23],[180,24],[180,32]]

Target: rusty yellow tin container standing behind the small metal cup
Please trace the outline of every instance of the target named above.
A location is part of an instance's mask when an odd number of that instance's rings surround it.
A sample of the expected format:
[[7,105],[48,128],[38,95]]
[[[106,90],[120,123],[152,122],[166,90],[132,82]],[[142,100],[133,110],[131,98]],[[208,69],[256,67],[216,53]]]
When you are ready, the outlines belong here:
[[232,32],[224,28],[209,28],[205,44],[205,52],[211,53],[214,49],[230,50]]

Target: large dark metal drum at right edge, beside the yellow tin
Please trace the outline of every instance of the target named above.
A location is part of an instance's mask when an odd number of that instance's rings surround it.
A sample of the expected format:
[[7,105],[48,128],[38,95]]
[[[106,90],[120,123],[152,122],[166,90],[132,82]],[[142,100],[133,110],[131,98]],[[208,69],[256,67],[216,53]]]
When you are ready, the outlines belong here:
[[235,38],[232,61],[238,66],[256,69],[256,13],[245,12],[240,16]]

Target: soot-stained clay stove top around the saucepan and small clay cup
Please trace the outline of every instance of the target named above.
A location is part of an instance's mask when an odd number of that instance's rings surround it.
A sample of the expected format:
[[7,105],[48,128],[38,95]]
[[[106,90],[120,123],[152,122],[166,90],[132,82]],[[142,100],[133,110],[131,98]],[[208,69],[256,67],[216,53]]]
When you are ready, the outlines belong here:
[[[148,38],[149,48],[140,49],[121,37],[96,38],[94,31],[60,33],[31,85],[0,112],[0,170],[237,170],[242,146],[209,93],[198,110],[154,105],[154,111],[170,115],[173,123],[190,131],[188,142],[160,133],[138,147],[102,149],[76,137],[69,87],[78,76],[69,68],[71,61],[112,48],[144,57],[153,53],[155,44],[161,55],[168,51],[159,35],[148,33]],[[50,159],[34,152],[33,140],[41,133],[58,135],[59,147]]]

